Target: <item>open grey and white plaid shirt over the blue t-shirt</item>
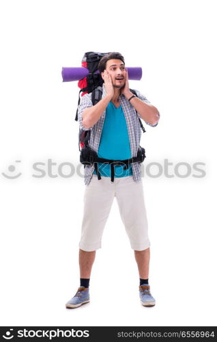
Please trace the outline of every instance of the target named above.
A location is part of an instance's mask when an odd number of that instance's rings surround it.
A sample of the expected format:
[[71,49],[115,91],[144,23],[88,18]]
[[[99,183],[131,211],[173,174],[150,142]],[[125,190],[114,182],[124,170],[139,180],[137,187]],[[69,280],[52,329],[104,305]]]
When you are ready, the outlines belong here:
[[[137,96],[141,99],[141,101],[145,103],[150,103],[145,96],[143,96],[139,90],[136,90]],[[106,90],[104,87],[104,83],[102,85],[102,98],[106,96]],[[137,112],[136,116],[136,110],[134,107],[130,104],[128,99],[121,94],[119,96],[119,102],[121,104],[121,107],[124,111],[124,116],[126,118],[126,124],[128,127],[128,135],[129,135],[129,140],[130,140],[130,150],[131,150],[131,158],[136,157],[137,151],[139,148],[139,143],[141,139],[141,127],[139,124],[139,118],[141,118],[140,114]],[[93,103],[91,101],[91,93],[90,94],[85,94],[81,98],[81,102],[78,105],[78,122],[80,124],[80,130],[83,129],[85,131],[91,130],[91,135],[89,139],[89,147],[92,148],[93,150],[98,153],[98,148],[100,145],[100,137],[103,129],[103,124],[104,124],[104,118],[106,116],[106,110],[103,112],[103,114],[100,116],[100,119],[96,124],[93,125],[93,127],[90,127],[89,129],[86,129],[83,127],[82,124],[82,114],[83,111],[88,108],[92,107]],[[149,122],[145,122],[146,124],[149,124]],[[149,124],[152,127],[155,127],[157,124]],[[141,180],[141,164],[140,163],[132,163],[132,177],[135,182]],[[85,185],[89,185],[91,181],[91,177],[94,171],[94,166],[93,165],[87,165],[85,166]]]

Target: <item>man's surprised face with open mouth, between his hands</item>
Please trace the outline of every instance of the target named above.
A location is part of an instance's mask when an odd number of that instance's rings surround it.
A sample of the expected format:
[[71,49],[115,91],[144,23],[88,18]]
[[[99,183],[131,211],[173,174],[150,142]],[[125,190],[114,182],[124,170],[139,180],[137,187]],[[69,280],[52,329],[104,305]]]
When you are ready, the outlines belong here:
[[[106,71],[111,76],[113,87],[124,88],[126,82],[126,68],[121,60],[109,60],[106,62]],[[104,79],[104,72],[101,73]]]

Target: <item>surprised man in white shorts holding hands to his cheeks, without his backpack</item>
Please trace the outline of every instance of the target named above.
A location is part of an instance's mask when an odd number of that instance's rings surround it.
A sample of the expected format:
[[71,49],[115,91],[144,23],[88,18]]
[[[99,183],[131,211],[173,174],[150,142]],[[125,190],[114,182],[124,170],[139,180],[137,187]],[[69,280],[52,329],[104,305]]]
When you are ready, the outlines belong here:
[[[102,99],[93,105],[91,94],[81,98],[78,106],[81,129],[91,131],[89,147],[98,153],[98,157],[115,161],[136,157],[141,138],[138,117],[154,127],[160,118],[158,109],[138,90],[138,97],[130,92],[128,72],[120,53],[104,55],[98,70],[104,80]],[[98,163],[98,171],[101,179],[98,179],[93,165],[85,167],[84,214],[79,244],[81,282],[76,295],[66,303],[66,307],[76,308],[89,302],[91,267],[96,250],[101,248],[102,233],[114,197],[117,198],[121,219],[134,250],[140,277],[141,304],[154,306],[156,301],[148,283],[150,241],[141,164],[131,163],[126,169],[116,165],[114,181],[111,181],[111,166],[108,163]]]

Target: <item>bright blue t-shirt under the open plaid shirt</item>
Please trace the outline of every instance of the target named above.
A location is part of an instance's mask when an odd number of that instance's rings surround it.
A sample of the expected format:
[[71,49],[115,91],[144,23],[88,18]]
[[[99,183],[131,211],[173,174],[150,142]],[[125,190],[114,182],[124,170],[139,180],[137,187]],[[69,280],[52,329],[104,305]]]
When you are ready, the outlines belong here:
[[[115,107],[112,102],[109,102],[106,107],[98,157],[113,160],[131,158],[128,127],[121,105]],[[101,176],[111,177],[111,166],[108,163],[98,163],[98,169]],[[93,174],[96,174],[95,170]],[[132,176],[131,164],[127,170],[124,170],[124,165],[115,165],[115,177],[126,176]]]

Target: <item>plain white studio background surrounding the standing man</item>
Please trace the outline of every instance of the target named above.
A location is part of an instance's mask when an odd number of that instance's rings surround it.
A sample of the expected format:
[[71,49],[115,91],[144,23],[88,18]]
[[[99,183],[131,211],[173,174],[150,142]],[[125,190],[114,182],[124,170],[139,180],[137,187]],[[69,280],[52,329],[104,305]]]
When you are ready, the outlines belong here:
[[[1,1],[1,326],[216,325],[216,1]],[[206,175],[143,178],[149,220],[149,285],[139,274],[114,202],[91,274],[91,302],[68,310],[79,285],[83,178],[77,82],[62,66],[86,51],[119,51],[141,66],[131,81],[160,111],[146,126],[145,165],[205,163]],[[47,174],[52,159],[52,178]],[[16,162],[20,160],[20,162]],[[45,163],[44,178],[32,174]],[[8,170],[16,166],[14,173]],[[81,169],[82,170],[82,169]],[[65,166],[65,174],[70,169]],[[180,169],[181,172],[181,169]],[[186,169],[183,168],[183,173]],[[154,173],[154,169],[153,169]]]

